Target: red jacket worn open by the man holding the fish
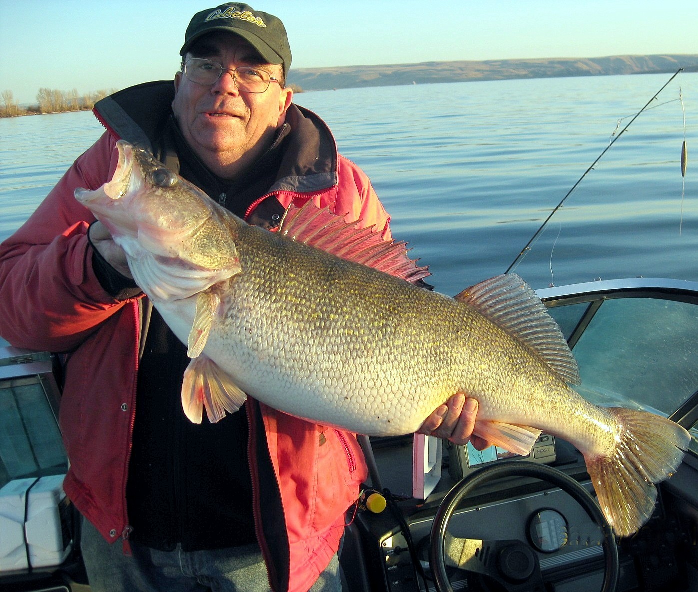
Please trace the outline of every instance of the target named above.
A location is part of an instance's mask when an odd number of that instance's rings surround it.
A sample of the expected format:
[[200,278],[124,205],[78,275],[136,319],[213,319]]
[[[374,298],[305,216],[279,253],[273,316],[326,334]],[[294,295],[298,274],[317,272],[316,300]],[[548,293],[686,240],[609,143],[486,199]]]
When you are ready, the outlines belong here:
[[[116,135],[105,133],[77,158],[29,220],[0,245],[0,334],[13,346],[66,353],[59,417],[70,459],[64,489],[110,542],[127,538],[129,530],[125,491],[144,297],[119,301],[103,290],[86,236],[94,216],[73,193],[110,179],[117,165]],[[337,214],[348,212],[363,225],[384,228],[389,237],[389,218],[369,179],[332,150],[336,184],[310,194],[273,195],[284,207],[311,195]],[[339,547],[345,512],[366,479],[364,457],[348,432],[249,399],[248,417],[255,524],[269,581],[277,592],[304,591]],[[264,445],[278,494],[259,482]],[[265,511],[265,500],[274,497],[265,497],[267,491],[280,494],[283,521]],[[281,531],[279,524],[285,526]]]

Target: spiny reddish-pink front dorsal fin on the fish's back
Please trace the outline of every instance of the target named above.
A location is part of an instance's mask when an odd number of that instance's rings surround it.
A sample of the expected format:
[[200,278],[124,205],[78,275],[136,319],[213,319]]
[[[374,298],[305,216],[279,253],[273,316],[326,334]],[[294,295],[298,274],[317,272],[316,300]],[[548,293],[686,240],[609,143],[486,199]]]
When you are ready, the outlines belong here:
[[387,241],[373,227],[356,226],[310,200],[302,207],[291,203],[283,214],[279,235],[412,283],[431,275],[408,257],[404,242]]

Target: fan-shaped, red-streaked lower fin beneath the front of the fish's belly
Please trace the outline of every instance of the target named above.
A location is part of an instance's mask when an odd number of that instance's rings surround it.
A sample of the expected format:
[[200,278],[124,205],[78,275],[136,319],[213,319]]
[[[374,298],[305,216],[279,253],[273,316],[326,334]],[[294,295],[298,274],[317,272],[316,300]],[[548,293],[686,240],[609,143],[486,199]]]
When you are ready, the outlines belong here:
[[181,384],[181,406],[184,415],[200,424],[203,409],[212,424],[225,417],[225,411],[235,413],[244,404],[247,395],[230,379],[227,373],[206,356],[189,362]]

